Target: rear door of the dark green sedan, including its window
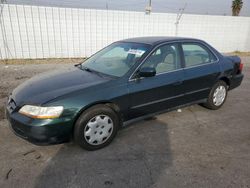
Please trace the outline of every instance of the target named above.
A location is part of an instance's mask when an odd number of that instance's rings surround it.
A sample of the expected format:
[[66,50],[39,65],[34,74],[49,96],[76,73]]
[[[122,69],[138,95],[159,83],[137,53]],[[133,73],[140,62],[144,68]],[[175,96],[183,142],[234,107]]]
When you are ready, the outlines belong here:
[[192,102],[207,98],[220,75],[218,58],[206,45],[199,42],[182,43],[182,51],[185,62],[185,99]]

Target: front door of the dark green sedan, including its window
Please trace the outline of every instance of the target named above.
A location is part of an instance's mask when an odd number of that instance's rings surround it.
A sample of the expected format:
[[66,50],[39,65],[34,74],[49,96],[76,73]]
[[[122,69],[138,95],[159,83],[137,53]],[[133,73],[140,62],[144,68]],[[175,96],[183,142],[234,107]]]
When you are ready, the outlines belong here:
[[176,106],[182,102],[182,84],[179,45],[165,44],[157,48],[141,67],[154,67],[156,75],[130,79],[129,118],[135,118]]

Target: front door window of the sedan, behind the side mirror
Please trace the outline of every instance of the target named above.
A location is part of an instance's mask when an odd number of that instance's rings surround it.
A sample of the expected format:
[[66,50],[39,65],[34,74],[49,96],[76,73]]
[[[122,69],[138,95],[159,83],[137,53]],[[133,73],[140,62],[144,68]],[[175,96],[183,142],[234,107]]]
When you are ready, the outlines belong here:
[[156,74],[180,68],[180,55],[176,44],[166,44],[157,48],[142,65],[155,68]]

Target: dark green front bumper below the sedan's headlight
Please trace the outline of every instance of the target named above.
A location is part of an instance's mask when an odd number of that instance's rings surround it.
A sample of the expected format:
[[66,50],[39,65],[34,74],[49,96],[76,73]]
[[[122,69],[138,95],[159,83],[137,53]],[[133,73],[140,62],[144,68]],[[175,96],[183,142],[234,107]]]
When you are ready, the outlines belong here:
[[60,144],[71,138],[73,123],[69,118],[33,119],[8,109],[6,118],[17,136],[36,145]]

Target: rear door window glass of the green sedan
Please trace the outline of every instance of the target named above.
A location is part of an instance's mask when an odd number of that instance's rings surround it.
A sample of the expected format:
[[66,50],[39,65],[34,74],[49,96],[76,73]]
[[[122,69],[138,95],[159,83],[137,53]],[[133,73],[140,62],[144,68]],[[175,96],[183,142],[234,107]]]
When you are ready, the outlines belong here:
[[186,67],[207,64],[216,61],[214,54],[201,44],[182,44]]

